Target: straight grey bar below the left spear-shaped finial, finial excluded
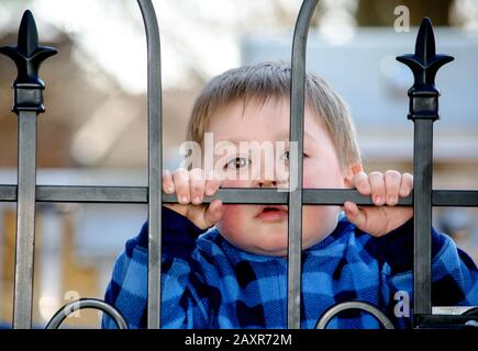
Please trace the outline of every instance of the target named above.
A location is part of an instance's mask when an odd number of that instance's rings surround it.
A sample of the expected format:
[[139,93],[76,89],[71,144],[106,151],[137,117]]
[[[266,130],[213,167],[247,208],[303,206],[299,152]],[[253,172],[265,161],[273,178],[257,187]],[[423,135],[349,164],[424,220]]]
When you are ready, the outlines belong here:
[[33,251],[35,241],[36,112],[19,113],[13,328],[32,327]]

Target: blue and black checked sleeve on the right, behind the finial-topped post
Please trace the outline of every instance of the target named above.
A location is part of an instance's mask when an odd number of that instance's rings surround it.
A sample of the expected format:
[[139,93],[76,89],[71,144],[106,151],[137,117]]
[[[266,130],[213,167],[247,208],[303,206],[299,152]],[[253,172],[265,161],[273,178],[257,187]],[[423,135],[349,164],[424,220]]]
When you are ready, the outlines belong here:
[[[478,269],[445,234],[432,228],[432,306],[477,306]],[[383,309],[396,327],[411,327],[413,309],[413,218],[377,238],[382,261]]]

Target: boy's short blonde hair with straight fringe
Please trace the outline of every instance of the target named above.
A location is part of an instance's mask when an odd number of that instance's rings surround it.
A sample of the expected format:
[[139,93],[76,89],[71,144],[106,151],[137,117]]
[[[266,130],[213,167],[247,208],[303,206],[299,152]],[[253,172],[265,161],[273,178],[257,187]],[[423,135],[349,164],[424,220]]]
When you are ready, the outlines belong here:
[[[202,144],[211,116],[235,101],[290,97],[290,66],[262,63],[231,69],[214,77],[196,100],[187,139]],[[332,137],[342,169],[360,162],[356,132],[345,101],[322,78],[305,73],[305,103],[321,118]]]

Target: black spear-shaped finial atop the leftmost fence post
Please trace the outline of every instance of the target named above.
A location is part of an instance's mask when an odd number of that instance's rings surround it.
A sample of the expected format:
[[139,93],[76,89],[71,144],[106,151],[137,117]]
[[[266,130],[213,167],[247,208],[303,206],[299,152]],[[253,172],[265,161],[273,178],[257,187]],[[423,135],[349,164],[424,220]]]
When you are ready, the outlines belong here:
[[[38,69],[46,58],[57,52],[53,47],[38,46],[35,20],[32,12],[26,10],[20,23],[18,45],[0,47],[0,53],[10,57],[18,69],[18,76],[13,82],[15,89],[13,111],[44,111],[41,90],[45,88],[45,83],[38,77]],[[32,93],[32,90],[38,91]]]

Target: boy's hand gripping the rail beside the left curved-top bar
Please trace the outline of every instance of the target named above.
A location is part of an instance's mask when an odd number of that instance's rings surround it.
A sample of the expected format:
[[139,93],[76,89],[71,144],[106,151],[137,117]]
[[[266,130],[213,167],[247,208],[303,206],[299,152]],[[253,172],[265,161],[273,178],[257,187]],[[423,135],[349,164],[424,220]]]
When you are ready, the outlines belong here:
[[209,205],[201,203],[204,195],[214,195],[220,185],[219,179],[207,180],[203,170],[199,168],[190,171],[178,169],[173,173],[165,170],[163,191],[167,194],[176,192],[179,203],[164,204],[164,206],[187,217],[198,228],[207,229],[221,219],[223,205],[221,200],[213,200]]

